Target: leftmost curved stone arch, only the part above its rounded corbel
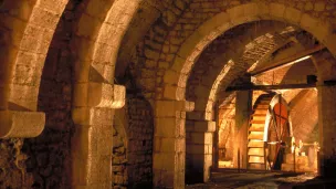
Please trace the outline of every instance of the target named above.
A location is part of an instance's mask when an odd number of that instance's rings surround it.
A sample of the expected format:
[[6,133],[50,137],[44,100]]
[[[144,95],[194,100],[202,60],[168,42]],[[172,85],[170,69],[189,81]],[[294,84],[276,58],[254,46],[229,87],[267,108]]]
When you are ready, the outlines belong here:
[[[1,46],[4,109],[36,111],[40,77],[46,52],[67,0],[4,1],[2,12],[4,45]],[[23,94],[23,95],[22,95]]]

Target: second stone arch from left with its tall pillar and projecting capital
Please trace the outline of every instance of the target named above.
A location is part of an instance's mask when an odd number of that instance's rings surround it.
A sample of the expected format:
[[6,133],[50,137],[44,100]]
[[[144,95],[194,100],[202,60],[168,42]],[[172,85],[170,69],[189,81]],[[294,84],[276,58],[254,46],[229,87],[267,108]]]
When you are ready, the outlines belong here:
[[88,1],[78,20],[71,42],[77,49],[72,109],[76,125],[72,138],[73,186],[112,186],[111,124],[114,109],[125,104],[125,87],[114,85],[114,69],[120,41],[140,2]]

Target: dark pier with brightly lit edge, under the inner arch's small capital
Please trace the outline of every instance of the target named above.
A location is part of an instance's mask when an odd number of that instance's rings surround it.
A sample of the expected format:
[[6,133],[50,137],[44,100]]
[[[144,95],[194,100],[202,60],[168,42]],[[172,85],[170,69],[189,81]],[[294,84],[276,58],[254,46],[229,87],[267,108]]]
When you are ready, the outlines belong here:
[[193,120],[187,126],[188,183],[207,182],[212,166],[212,143],[216,122]]

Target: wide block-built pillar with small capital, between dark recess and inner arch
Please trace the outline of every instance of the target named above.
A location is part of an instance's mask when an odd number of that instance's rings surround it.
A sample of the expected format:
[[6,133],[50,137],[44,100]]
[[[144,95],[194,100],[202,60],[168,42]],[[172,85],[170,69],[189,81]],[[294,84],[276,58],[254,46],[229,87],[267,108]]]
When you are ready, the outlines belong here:
[[154,134],[154,188],[185,188],[186,112],[193,109],[186,101],[157,101]]

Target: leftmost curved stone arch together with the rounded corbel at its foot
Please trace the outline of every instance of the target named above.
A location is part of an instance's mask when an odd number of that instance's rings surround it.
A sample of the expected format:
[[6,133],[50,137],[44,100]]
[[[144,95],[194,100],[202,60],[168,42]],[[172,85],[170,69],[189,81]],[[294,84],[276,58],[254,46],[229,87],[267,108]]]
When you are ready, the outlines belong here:
[[[0,137],[34,137],[44,126],[36,113],[43,63],[66,0],[4,1],[1,12]],[[13,11],[14,10],[14,11]],[[31,123],[10,125],[23,118]]]

